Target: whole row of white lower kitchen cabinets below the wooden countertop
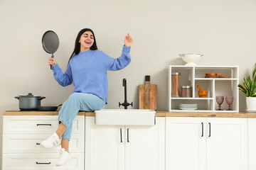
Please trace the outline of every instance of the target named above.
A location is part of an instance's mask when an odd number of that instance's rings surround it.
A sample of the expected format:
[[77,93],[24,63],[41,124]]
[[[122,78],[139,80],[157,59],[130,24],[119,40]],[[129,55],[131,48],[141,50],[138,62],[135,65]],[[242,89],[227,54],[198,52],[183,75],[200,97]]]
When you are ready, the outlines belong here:
[[60,147],[38,145],[58,128],[57,115],[4,115],[3,126],[4,170],[247,170],[248,160],[256,169],[255,118],[156,117],[154,126],[118,126],[78,115],[73,159],[59,167]]

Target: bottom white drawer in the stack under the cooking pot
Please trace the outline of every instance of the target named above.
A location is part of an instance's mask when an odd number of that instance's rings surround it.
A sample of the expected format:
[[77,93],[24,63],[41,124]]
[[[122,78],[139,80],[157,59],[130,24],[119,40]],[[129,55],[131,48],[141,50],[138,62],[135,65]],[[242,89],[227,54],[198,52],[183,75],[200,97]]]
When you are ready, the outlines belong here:
[[[72,159],[63,166],[55,166],[60,154],[3,154],[4,170],[83,170],[83,154],[71,153]],[[39,164],[36,164],[38,162]],[[46,164],[40,164],[46,163]]]

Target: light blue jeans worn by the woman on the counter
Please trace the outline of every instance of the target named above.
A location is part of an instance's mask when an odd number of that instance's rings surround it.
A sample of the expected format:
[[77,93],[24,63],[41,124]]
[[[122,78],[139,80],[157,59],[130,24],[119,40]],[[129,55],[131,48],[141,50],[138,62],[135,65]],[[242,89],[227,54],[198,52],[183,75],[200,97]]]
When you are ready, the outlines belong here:
[[73,93],[61,106],[58,123],[63,123],[67,130],[63,133],[63,140],[70,140],[73,120],[78,111],[97,111],[105,106],[105,101],[93,94]]

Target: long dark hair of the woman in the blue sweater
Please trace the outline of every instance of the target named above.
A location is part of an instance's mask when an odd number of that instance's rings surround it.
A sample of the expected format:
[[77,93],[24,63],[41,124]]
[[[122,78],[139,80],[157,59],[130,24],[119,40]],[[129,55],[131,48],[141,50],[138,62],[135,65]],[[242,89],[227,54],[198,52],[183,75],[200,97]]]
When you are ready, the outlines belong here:
[[[93,31],[90,28],[84,28],[84,29],[80,30],[80,32],[78,33],[77,38],[75,39],[75,49],[72,52],[72,55],[70,56],[70,59],[74,55],[78,55],[78,53],[80,52],[80,42],[79,42],[79,40],[80,40],[82,34],[85,33],[86,31],[90,31],[92,33],[93,39],[94,39],[92,47],[90,47],[90,50],[97,50],[96,38],[95,38],[95,35],[94,35]],[[70,62],[70,59],[68,60],[68,63]]]

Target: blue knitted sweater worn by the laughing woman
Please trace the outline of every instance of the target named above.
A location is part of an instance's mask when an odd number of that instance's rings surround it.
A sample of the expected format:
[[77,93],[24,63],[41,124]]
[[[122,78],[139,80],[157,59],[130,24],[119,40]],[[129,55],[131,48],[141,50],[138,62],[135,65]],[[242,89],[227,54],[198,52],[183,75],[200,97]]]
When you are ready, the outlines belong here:
[[109,57],[100,50],[88,50],[74,55],[63,74],[55,64],[53,76],[61,86],[74,84],[73,93],[94,94],[107,101],[107,71],[115,71],[127,67],[131,62],[131,47],[124,46],[122,55],[117,59]]

